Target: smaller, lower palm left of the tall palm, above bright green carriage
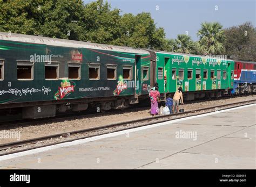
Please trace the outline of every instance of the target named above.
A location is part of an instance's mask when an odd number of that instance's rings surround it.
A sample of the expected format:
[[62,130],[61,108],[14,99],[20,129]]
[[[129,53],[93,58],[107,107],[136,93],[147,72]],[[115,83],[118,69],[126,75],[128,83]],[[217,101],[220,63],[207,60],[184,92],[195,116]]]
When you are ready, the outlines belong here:
[[196,45],[189,35],[178,34],[175,40],[174,52],[178,53],[196,53]]

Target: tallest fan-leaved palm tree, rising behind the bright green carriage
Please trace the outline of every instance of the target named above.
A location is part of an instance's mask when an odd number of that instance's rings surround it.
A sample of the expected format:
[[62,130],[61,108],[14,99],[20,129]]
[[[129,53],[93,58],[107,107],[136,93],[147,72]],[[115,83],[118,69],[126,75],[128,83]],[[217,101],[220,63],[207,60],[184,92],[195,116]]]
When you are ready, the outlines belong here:
[[217,55],[225,52],[223,42],[225,41],[224,30],[218,22],[201,24],[197,35],[199,37],[199,51],[203,55]]

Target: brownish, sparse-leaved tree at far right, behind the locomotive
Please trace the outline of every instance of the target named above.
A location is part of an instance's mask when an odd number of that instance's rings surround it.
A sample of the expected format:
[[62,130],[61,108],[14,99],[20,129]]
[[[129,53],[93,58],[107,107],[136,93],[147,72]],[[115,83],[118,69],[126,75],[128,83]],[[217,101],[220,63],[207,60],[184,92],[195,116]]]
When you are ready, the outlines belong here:
[[250,22],[224,30],[227,57],[256,61],[256,28]]

